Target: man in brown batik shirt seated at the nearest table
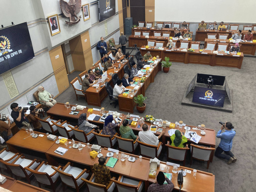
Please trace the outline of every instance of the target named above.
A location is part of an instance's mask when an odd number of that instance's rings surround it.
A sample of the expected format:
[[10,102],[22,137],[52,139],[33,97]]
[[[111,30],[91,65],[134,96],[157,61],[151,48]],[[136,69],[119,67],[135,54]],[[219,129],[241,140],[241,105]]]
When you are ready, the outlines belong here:
[[95,177],[95,183],[102,184],[108,186],[111,175],[110,175],[110,170],[107,168],[105,164],[106,158],[104,156],[101,156],[99,158],[99,163],[95,163],[92,166],[92,172],[94,173]]

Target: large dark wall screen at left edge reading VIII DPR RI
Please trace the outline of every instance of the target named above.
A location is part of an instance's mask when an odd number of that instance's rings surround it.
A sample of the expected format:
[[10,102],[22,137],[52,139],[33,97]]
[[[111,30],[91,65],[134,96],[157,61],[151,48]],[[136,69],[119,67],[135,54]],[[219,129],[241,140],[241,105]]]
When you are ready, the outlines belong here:
[[0,74],[34,56],[26,22],[0,30]]

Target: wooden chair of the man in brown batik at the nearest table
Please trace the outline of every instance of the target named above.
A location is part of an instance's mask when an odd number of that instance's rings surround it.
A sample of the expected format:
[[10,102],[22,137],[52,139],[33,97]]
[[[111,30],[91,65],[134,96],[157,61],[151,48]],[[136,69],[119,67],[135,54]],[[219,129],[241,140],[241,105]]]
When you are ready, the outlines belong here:
[[[88,186],[89,192],[112,192],[116,185],[113,181],[110,181],[108,186],[95,183],[95,176],[92,174],[90,180],[86,180],[85,178],[81,178],[84,182],[86,182],[86,185]],[[115,177],[112,177],[113,180],[116,180]]]

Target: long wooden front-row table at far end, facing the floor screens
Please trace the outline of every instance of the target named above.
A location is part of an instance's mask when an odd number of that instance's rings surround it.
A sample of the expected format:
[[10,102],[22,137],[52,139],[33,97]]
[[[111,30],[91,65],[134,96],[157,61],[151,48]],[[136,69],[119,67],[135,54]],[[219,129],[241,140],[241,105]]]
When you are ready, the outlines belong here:
[[159,55],[159,57],[169,57],[170,61],[173,62],[182,62],[185,64],[195,63],[195,64],[206,64],[210,66],[225,66],[225,67],[236,67],[241,68],[244,54],[241,52],[241,55],[235,54],[225,54],[219,52],[219,54],[213,54],[213,51],[204,50],[202,53],[199,50],[195,50],[195,52],[184,52],[183,49],[166,49],[163,50],[155,49],[151,47],[151,49],[147,49],[146,46],[142,46],[140,48],[141,54],[146,54],[147,51],[150,51],[151,55]]

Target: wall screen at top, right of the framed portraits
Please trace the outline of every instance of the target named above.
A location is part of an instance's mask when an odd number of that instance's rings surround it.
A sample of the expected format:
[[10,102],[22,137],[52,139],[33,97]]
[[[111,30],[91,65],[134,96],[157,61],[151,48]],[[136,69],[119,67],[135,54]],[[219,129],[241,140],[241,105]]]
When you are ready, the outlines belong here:
[[99,18],[100,22],[110,18],[116,13],[115,0],[99,0]]

